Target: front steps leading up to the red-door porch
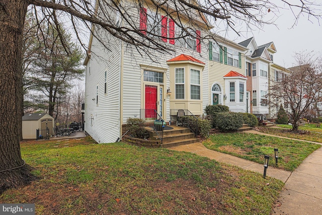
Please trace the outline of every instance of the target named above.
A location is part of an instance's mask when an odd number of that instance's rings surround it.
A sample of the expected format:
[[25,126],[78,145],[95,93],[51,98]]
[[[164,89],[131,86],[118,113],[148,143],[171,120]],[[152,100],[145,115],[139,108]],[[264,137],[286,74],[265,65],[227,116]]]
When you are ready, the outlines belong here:
[[[161,145],[162,148],[194,144],[195,142],[199,141],[199,139],[195,137],[195,134],[192,133],[189,128],[175,125],[170,125],[169,127],[172,127],[174,129],[163,131],[163,144]],[[148,132],[151,139],[159,139],[157,134],[153,132],[153,129],[149,129]]]

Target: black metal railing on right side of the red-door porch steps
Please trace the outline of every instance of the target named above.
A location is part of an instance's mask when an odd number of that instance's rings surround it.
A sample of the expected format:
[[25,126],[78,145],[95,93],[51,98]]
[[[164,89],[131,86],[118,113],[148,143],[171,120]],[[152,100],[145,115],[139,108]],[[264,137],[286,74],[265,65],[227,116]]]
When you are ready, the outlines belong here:
[[198,136],[198,118],[187,109],[170,109],[171,124],[187,127]]

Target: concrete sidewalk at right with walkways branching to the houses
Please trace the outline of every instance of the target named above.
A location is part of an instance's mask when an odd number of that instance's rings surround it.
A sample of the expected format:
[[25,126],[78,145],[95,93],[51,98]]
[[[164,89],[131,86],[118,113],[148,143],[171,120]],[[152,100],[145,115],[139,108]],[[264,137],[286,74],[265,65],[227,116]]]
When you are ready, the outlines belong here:
[[[277,135],[265,134],[256,130],[245,131],[280,138],[294,139]],[[298,139],[294,139],[298,140]],[[303,140],[301,140],[303,141]],[[307,141],[312,142],[312,141]],[[318,142],[315,144],[322,145]],[[215,152],[204,147],[200,142],[169,148],[170,150],[191,152],[197,155],[228,163],[245,170],[263,174],[263,164],[254,163],[227,154]],[[314,151],[292,173],[268,167],[267,176],[277,178],[285,183],[279,198],[274,204],[271,214],[322,214],[322,149]]]

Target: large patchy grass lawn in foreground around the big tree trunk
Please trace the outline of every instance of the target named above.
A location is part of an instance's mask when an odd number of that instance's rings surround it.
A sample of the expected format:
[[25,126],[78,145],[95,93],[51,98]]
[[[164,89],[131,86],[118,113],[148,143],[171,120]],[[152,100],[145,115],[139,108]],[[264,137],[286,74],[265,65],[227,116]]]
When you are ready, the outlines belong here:
[[36,214],[270,214],[283,182],[191,153],[122,142],[34,141],[22,156],[39,181],[1,203]]

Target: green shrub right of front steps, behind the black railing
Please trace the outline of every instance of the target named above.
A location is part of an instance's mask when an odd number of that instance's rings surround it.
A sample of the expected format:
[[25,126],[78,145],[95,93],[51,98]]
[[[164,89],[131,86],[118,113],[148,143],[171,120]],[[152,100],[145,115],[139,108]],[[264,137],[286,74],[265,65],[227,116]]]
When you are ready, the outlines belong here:
[[201,137],[208,137],[209,131],[211,129],[211,122],[208,119],[197,118],[197,125],[196,125],[196,118],[193,116],[184,116],[182,117],[182,121],[184,126],[189,127],[193,132],[196,131],[198,125],[198,135]]

